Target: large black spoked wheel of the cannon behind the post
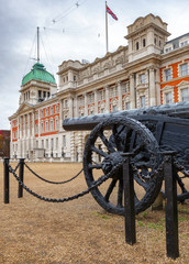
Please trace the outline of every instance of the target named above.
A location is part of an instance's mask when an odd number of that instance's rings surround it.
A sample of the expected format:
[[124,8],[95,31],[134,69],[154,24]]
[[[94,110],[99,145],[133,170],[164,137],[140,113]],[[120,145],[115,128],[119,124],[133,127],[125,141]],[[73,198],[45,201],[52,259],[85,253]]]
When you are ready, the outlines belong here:
[[[86,142],[84,172],[90,187],[94,180],[110,173],[123,161],[122,153],[126,152],[133,153],[135,212],[138,213],[154,202],[163,182],[162,175],[154,173],[160,164],[158,144],[145,125],[136,120],[120,117],[99,123]],[[107,211],[123,215],[122,166],[91,194]]]

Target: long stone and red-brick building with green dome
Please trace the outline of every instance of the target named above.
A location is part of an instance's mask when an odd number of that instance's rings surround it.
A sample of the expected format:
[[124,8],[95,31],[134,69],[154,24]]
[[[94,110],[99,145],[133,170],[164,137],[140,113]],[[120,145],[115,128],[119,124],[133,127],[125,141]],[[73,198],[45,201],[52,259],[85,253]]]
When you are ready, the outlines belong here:
[[36,63],[22,79],[11,123],[11,158],[81,162],[90,131],[66,118],[189,100],[189,33],[167,41],[167,23],[148,14],[127,26],[126,46],[93,63],[67,61],[53,75]]

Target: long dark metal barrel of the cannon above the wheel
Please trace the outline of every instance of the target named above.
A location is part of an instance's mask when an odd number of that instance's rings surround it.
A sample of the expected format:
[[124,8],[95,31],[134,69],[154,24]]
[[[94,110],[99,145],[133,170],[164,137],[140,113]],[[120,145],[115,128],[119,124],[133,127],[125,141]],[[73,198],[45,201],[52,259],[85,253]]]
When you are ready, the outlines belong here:
[[165,114],[167,117],[189,119],[189,102],[178,102],[173,105],[162,105],[157,107],[132,109],[119,112],[100,113],[81,118],[65,119],[63,122],[63,128],[68,131],[92,130],[98,123],[107,120],[108,118],[127,117],[135,119],[144,114],[145,116]]

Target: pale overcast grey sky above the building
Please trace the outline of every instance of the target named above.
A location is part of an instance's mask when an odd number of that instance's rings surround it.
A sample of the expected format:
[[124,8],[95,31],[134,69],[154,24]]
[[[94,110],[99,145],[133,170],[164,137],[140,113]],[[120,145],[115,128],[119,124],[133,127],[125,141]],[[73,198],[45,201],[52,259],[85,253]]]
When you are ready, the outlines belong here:
[[[169,40],[189,32],[188,0],[108,0],[118,21],[109,19],[109,51],[126,45],[126,26],[148,13],[168,24]],[[79,6],[78,6],[78,4]],[[19,108],[23,76],[36,58],[36,28],[41,30],[41,63],[56,77],[66,59],[105,55],[104,0],[0,0],[0,130]]]

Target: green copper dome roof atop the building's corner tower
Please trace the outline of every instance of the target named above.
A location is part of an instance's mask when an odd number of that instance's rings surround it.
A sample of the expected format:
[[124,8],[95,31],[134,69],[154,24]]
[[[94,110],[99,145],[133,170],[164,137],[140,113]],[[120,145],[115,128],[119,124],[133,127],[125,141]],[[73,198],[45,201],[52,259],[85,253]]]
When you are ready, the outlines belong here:
[[22,79],[22,86],[30,80],[42,80],[51,84],[56,84],[55,78],[49,74],[43,64],[36,63],[29,74],[26,74]]

